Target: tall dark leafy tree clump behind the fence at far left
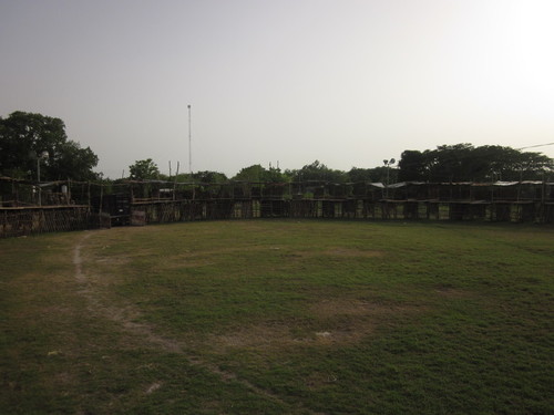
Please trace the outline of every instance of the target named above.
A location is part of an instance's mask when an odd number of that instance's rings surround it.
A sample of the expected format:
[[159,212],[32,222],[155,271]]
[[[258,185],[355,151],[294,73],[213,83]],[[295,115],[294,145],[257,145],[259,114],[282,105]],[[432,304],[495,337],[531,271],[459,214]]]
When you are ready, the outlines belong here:
[[[41,154],[48,158],[37,158]],[[90,147],[81,148],[68,139],[60,118],[17,111],[0,117],[0,174],[17,178],[37,178],[40,163],[41,180],[92,180],[99,158]]]

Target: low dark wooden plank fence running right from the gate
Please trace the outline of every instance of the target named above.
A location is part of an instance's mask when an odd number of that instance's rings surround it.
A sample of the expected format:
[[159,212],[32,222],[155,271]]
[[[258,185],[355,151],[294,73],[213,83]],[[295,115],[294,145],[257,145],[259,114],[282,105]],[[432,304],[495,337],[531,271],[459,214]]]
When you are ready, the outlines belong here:
[[554,204],[383,200],[183,200],[132,205],[132,225],[256,218],[554,224]]

